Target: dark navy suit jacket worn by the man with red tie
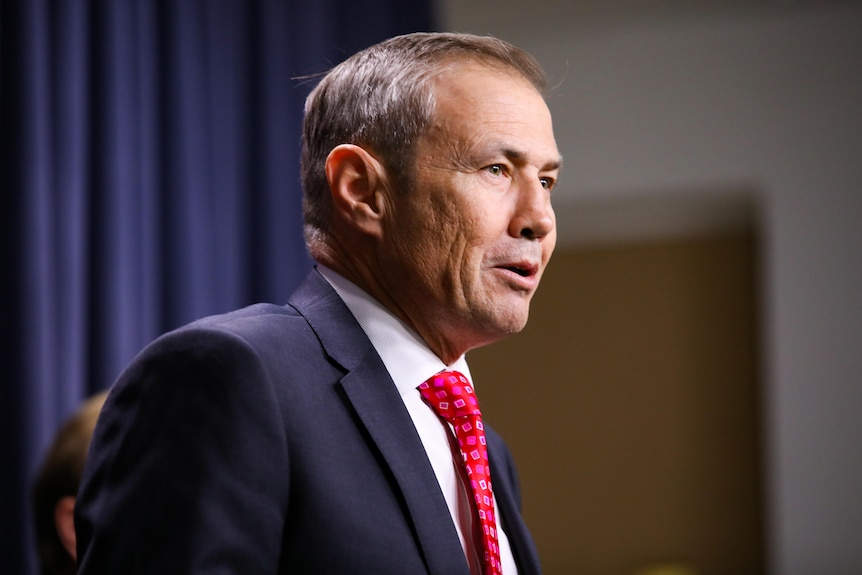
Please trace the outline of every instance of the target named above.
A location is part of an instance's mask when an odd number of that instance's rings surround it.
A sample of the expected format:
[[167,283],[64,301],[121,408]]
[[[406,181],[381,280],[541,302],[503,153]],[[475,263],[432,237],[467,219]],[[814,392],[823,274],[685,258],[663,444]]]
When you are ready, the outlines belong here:
[[[539,573],[517,477],[488,431],[503,526]],[[79,573],[468,575],[380,357],[315,271],[162,336],[120,376],[76,505]]]

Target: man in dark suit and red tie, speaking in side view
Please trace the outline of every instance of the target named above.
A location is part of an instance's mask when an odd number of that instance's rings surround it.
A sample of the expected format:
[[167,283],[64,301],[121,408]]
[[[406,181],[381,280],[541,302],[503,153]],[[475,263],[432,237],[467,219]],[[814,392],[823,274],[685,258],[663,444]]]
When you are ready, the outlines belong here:
[[477,495],[417,386],[446,370],[469,389],[464,354],[527,321],[561,161],[544,83],[521,50],[455,34],[322,79],[302,152],[319,265],[287,306],[195,322],[120,377],[79,495],[80,573],[539,572],[502,440],[478,439]]

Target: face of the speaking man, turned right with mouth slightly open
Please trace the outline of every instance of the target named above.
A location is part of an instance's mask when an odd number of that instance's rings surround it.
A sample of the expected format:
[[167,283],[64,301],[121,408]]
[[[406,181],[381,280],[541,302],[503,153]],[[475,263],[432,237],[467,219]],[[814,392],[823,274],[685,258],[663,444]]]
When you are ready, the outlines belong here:
[[435,86],[412,189],[391,198],[380,269],[402,318],[449,360],[526,324],[556,241],[560,155],[523,78],[466,65]]

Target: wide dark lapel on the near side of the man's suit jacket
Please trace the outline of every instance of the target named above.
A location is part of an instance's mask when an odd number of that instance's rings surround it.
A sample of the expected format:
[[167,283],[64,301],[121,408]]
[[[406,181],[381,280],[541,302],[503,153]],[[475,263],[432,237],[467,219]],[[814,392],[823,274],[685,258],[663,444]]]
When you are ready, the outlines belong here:
[[428,456],[374,346],[328,282],[312,272],[291,298],[347,374],[340,385],[394,479],[429,573],[468,575],[464,552]]

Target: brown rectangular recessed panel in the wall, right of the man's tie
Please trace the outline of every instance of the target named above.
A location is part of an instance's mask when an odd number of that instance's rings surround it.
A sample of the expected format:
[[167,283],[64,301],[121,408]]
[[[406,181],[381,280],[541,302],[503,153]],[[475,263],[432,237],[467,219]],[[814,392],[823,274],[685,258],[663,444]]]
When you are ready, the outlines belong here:
[[763,572],[754,268],[750,237],[558,251],[470,353],[548,574]]

